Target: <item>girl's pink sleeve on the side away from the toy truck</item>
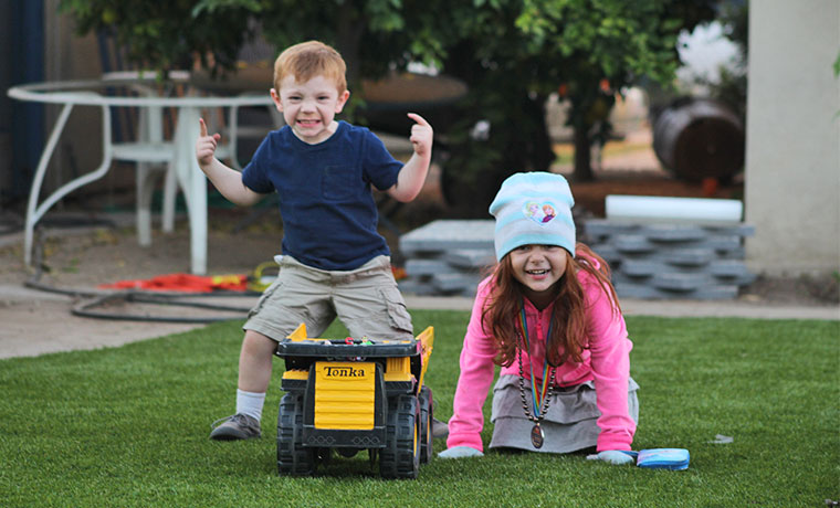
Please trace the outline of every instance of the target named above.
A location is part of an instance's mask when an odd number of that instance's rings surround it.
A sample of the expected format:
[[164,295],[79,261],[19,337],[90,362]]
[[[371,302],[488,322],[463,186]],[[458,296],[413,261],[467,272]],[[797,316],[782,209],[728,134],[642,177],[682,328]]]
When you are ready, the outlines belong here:
[[[589,277],[587,277],[589,278]],[[586,289],[588,335],[595,392],[598,400],[598,452],[631,449],[636,422],[630,417],[627,393],[630,382],[630,350],[624,318],[609,293],[595,279],[581,281]]]

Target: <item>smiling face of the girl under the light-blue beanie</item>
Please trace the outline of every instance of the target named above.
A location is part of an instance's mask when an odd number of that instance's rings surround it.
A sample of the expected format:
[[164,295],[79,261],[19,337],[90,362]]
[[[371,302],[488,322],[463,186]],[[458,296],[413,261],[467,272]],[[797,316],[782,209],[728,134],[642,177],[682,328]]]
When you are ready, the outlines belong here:
[[569,255],[558,245],[522,245],[508,254],[513,276],[522,284],[525,296],[537,308],[545,308],[554,300],[555,285],[566,273]]

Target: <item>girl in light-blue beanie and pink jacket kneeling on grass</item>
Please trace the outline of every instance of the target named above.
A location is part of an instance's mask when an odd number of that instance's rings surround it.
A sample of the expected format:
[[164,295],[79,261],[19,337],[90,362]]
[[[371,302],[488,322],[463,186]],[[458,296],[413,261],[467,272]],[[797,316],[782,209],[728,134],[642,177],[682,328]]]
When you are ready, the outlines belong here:
[[[534,203],[554,214],[535,216]],[[575,242],[573,205],[566,179],[546,172],[510,177],[490,205],[498,264],[479,285],[440,457],[483,455],[482,408],[498,364],[491,448],[595,446],[602,461],[633,462],[621,452],[639,417],[632,343],[607,264]]]

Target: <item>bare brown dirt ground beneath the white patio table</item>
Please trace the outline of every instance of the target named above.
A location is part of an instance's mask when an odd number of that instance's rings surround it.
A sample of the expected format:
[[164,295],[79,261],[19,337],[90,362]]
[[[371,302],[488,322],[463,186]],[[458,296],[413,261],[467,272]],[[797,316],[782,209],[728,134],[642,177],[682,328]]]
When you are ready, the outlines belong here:
[[[63,222],[75,222],[77,227],[44,227],[38,240],[42,252],[38,273],[24,266],[20,243],[0,248],[0,282],[22,284],[38,275],[44,284],[90,288],[118,281],[189,273],[190,237],[186,221],[178,221],[174,233],[155,231],[151,245],[140,246],[135,229],[127,225],[130,216],[111,218],[111,224],[107,220],[88,224],[90,218],[71,213],[63,215]],[[211,212],[210,274],[248,273],[280,252],[279,221],[265,219],[240,227],[249,219],[249,213],[243,211]]]

